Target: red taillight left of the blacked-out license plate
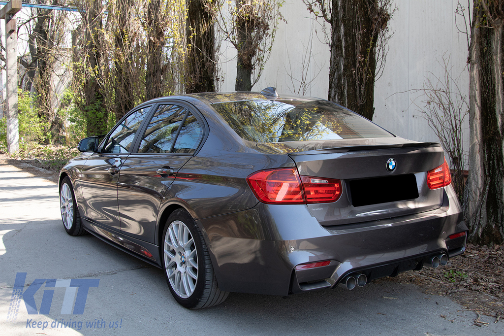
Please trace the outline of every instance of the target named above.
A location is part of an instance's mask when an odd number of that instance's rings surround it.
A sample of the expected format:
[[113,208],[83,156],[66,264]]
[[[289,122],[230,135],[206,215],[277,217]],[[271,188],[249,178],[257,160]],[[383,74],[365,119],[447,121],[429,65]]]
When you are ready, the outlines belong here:
[[329,203],[341,195],[340,180],[300,177],[295,167],[256,172],[247,177],[247,182],[256,197],[267,204]]

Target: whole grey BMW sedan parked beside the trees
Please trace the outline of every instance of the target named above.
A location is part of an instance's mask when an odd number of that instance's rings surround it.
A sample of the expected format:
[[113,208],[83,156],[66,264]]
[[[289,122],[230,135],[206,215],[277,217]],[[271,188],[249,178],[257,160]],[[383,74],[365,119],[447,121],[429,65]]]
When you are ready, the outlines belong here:
[[324,99],[157,98],[78,148],[59,177],[67,233],[162,268],[186,308],[358,288],[465,250],[443,148]]

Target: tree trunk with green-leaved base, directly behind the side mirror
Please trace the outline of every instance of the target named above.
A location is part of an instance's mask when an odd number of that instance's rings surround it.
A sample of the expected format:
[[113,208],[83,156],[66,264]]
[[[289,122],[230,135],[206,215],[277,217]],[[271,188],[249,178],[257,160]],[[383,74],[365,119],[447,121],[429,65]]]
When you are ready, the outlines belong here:
[[87,62],[84,65],[84,118],[88,136],[108,131],[108,111],[105,106],[105,78],[102,70],[101,2],[91,2],[87,11],[86,41]]

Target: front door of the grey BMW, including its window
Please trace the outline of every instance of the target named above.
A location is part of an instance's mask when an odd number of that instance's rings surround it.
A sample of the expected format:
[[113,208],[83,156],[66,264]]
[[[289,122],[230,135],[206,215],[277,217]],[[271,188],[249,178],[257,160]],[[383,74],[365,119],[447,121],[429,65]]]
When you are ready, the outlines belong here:
[[109,133],[101,152],[93,153],[81,171],[84,213],[89,221],[119,230],[117,180],[119,169],[133,149],[136,133],[151,106],[144,106],[124,117]]

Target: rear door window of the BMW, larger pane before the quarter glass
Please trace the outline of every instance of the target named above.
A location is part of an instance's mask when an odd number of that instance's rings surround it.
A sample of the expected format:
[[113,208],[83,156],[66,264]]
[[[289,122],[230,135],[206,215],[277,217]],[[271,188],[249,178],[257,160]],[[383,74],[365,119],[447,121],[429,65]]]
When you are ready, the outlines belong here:
[[145,130],[139,153],[169,153],[187,109],[177,105],[159,105]]

